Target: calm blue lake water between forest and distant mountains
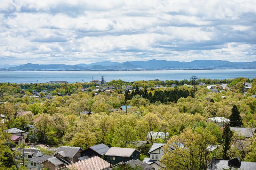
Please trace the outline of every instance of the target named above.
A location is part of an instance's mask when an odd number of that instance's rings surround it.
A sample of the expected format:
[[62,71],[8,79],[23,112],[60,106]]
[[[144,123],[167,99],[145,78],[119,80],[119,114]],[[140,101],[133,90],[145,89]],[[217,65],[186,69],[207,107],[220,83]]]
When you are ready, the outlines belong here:
[[256,77],[256,69],[234,69],[234,70],[154,70],[154,71],[31,71],[31,72],[0,72],[0,82],[10,83],[36,83],[48,81],[68,81],[90,82],[101,80],[104,76],[105,81],[123,80],[190,80],[192,76],[198,79],[228,79],[237,77]]

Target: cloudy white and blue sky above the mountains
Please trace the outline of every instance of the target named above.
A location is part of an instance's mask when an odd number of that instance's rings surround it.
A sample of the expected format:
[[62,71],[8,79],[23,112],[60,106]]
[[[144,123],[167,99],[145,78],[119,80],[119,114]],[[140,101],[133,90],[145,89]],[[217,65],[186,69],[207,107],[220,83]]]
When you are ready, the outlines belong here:
[[256,61],[255,0],[0,4],[0,64]]

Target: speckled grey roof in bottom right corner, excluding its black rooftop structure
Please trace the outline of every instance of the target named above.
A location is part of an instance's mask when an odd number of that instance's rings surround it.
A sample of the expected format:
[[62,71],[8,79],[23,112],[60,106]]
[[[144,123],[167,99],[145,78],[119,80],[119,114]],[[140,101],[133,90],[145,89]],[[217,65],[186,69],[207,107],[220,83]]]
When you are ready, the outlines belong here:
[[[241,161],[240,168],[237,170],[252,170],[255,169],[256,162],[245,162]],[[219,169],[229,169],[228,160],[212,160],[207,168],[207,170],[219,170]]]

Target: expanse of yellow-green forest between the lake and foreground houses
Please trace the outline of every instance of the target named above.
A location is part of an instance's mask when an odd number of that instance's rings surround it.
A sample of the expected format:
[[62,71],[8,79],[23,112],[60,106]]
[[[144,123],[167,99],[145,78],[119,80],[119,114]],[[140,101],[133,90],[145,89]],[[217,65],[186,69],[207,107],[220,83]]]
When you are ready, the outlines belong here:
[[[218,92],[206,86],[192,87],[188,80],[112,80],[102,85],[104,89],[112,87],[111,90],[97,91],[98,84],[86,82],[0,83],[1,116],[5,116],[0,123],[0,148],[4,148],[0,151],[0,170],[17,168],[14,153],[6,145],[15,147],[4,133],[10,128],[28,132],[28,142],[32,144],[85,149],[104,143],[109,147],[136,148],[141,150],[141,160],[148,157],[152,143],[169,143],[174,147],[175,143],[183,143],[185,149],[177,147],[172,152],[170,145],[165,145],[160,160],[165,169],[207,169],[212,158],[239,157],[241,161],[256,162],[256,136],[245,138],[230,130],[230,127],[256,127],[256,98],[252,97],[256,95],[256,79],[199,79],[198,82],[216,85]],[[244,82],[252,84],[246,92]],[[221,85],[225,83],[228,85],[223,89]],[[172,84],[176,86],[171,87]],[[132,90],[125,89],[128,85]],[[84,87],[86,91],[81,90]],[[32,94],[33,90],[38,94]],[[130,107],[123,111],[119,109],[122,105]],[[24,111],[31,112],[17,114]],[[83,114],[84,111],[92,114]],[[220,128],[208,119],[212,117],[225,117],[230,122]],[[35,126],[36,132],[27,131],[28,124]],[[154,138],[152,133],[146,138],[148,132],[168,132],[168,142]],[[141,140],[150,144],[138,148],[137,141]],[[219,147],[205,152],[209,145]]]

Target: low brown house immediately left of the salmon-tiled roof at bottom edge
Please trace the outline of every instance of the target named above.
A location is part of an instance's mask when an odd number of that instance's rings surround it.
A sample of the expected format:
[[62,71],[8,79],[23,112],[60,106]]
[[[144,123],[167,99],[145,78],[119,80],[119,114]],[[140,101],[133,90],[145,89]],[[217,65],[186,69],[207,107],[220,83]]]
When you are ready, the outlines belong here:
[[64,158],[60,158],[56,156],[56,157],[46,159],[45,161],[41,162],[41,164],[43,167],[49,170],[55,170],[55,169],[59,169],[60,167],[69,165],[69,162]]

